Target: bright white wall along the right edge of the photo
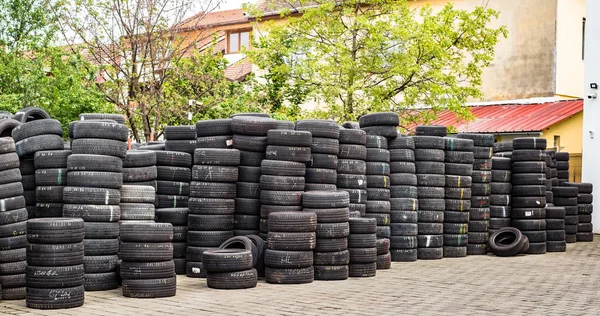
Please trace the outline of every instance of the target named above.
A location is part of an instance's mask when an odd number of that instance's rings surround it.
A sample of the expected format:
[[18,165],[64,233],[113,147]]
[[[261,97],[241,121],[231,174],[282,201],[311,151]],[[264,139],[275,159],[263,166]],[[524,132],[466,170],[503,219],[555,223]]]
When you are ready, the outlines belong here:
[[[588,34],[585,41],[586,56],[600,56],[600,37],[589,36],[600,34],[600,1],[588,0],[586,2],[586,30]],[[586,58],[585,60],[585,94],[598,92],[592,90],[590,83],[600,83],[600,59]],[[584,99],[583,103],[583,152],[582,152],[582,181],[591,182],[598,192],[600,188],[600,99]],[[600,233],[600,216],[592,216],[594,232]]]

